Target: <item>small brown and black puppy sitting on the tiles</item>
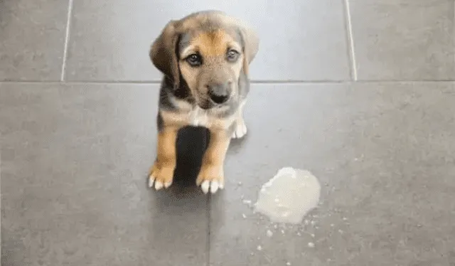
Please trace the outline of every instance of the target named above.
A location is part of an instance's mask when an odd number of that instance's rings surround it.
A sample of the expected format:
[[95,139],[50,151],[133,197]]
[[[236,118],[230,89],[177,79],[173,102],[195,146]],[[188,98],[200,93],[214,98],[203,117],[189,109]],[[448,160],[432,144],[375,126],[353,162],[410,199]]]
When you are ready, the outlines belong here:
[[171,186],[177,133],[190,125],[210,131],[197,185],[204,193],[223,188],[230,139],[247,132],[242,108],[250,89],[248,66],[258,47],[252,28],[220,11],[201,11],[166,25],[150,50],[151,61],[164,74],[150,187]]

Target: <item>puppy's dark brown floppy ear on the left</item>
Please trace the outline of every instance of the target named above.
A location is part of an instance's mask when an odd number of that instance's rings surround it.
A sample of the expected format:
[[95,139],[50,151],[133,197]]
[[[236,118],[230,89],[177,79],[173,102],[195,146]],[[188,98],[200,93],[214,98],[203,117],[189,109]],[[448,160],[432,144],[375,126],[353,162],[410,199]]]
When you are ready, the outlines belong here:
[[169,21],[163,31],[150,48],[150,59],[158,70],[173,80],[174,87],[180,85],[180,72],[178,70],[177,41],[178,31],[176,24],[178,21]]

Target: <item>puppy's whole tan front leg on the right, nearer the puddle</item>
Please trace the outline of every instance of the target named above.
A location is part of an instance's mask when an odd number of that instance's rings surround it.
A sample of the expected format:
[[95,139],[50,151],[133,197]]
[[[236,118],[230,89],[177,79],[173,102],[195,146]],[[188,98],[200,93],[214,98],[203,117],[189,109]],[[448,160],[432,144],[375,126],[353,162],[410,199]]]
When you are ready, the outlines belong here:
[[210,143],[203,156],[202,166],[196,184],[204,193],[218,191],[225,186],[224,162],[232,132],[210,129]]

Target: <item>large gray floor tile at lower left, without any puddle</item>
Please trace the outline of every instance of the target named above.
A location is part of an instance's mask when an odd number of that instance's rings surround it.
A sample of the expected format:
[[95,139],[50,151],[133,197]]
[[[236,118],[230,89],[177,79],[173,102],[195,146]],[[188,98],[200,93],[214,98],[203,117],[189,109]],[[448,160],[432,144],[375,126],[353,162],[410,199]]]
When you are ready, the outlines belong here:
[[146,188],[154,85],[0,87],[1,265],[205,265],[207,198]]

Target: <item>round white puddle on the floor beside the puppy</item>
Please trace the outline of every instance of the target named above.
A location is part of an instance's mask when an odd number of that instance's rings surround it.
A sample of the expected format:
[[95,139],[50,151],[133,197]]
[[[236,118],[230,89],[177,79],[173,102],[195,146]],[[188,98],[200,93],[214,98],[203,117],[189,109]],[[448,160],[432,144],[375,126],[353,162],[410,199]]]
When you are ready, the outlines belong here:
[[255,212],[274,223],[301,223],[319,203],[321,184],[311,172],[284,167],[264,183],[255,203]]

